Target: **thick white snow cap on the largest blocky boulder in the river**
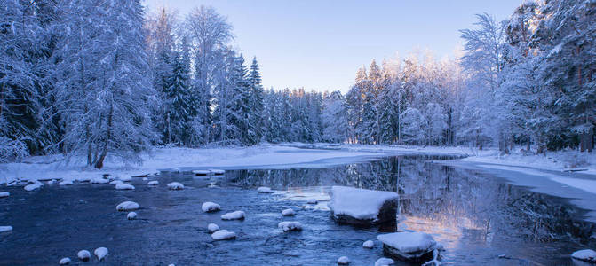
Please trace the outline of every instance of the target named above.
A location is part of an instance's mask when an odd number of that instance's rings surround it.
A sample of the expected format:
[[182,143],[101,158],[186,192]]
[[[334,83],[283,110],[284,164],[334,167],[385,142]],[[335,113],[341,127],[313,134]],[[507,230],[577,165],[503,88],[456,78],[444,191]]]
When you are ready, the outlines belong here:
[[395,192],[371,191],[346,186],[331,188],[329,207],[334,215],[348,215],[361,220],[377,220],[378,212],[387,200],[398,198]]

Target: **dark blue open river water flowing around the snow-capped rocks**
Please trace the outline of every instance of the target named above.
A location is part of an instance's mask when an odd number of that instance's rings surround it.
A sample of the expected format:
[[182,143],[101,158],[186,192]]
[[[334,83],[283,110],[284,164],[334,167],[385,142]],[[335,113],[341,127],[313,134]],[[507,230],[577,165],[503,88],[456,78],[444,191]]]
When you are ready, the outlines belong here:
[[[385,228],[337,225],[327,209],[333,184],[398,192],[397,230],[425,231],[445,246],[447,265],[581,265],[569,254],[596,246],[596,229],[584,211],[567,200],[505,184],[493,176],[437,165],[428,156],[392,157],[332,168],[234,169],[223,177],[163,172],[158,187],[133,178],[134,191],[109,184],[59,186],[36,192],[2,187],[0,265],[56,265],[62,257],[79,263],[76,252],[106,246],[104,262],[83,265],[334,265],[346,255],[351,265],[372,265],[383,256],[376,241]],[[183,191],[168,191],[178,181]],[[258,194],[266,185],[278,190]],[[317,205],[306,204],[316,198]],[[138,220],[115,211],[124,201],[139,202]],[[203,214],[204,201],[222,211]],[[284,208],[297,211],[282,217]],[[234,210],[244,221],[222,221]],[[284,233],[282,221],[299,221],[304,231]],[[213,241],[207,224],[234,231],[237,239]],[[375,240],[375,247],[362,242]],[[399,264],[398,265],[407,265]]]

